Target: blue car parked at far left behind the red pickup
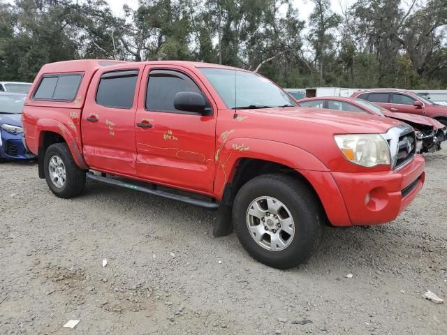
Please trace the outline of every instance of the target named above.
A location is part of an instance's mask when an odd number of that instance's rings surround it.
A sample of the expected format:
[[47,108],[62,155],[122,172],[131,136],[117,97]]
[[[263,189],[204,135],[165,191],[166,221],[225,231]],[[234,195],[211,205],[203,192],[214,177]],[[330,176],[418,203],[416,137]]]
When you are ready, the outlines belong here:
[[25,149],[22,142],[25,98],[26,94],[0,93],[0,161],[36,157]]

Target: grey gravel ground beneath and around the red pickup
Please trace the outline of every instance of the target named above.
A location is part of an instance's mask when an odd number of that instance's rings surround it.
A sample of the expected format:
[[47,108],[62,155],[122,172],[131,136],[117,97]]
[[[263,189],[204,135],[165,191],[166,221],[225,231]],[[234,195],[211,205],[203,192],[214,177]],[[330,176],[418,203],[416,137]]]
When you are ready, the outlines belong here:
[[35,163],[0,164],[0,334],[447,334],[423,298],[447,299],[447,149],[425,158],[396,221],[328,228],[288,271],[214,239],[211,211],[92,181],[61,200]]

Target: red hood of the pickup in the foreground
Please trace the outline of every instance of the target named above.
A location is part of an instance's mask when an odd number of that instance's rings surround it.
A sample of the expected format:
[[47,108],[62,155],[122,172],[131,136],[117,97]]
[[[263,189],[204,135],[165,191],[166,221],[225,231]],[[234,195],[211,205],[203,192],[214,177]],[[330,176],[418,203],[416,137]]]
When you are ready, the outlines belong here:
[[[247,111],[248,112],[248,111]],[[261,114],[277,118],[284,126],[284,119],[323,124],[334,128],[335,133],[386,133],[389,128],[402,122],[370,114],[340,112],[310,107],[278,107],[249,110],[251,114]]]

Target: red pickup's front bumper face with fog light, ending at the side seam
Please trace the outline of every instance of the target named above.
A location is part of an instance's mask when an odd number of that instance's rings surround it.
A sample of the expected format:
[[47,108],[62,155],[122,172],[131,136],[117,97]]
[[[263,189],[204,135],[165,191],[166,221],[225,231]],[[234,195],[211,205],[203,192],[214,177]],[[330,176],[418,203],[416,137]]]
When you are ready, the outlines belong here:
[[416,156],[395,171],[332,172],[351,225],[378,225],[397,218],[422,188],[424,168],[424,159]]

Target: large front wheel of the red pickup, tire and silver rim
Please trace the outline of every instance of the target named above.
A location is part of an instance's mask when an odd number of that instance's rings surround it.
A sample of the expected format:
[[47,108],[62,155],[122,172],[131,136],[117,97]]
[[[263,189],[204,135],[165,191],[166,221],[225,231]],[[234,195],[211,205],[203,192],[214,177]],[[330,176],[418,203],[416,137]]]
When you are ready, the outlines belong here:
[[[264,213],[264,222],[251,215]],[[282,174],[251,179],[233,202],[233,224],[242,246],[259,262],[277,269],[297,267],[314,254],[323,235],[323,221],[314,191],[304,181]]]

